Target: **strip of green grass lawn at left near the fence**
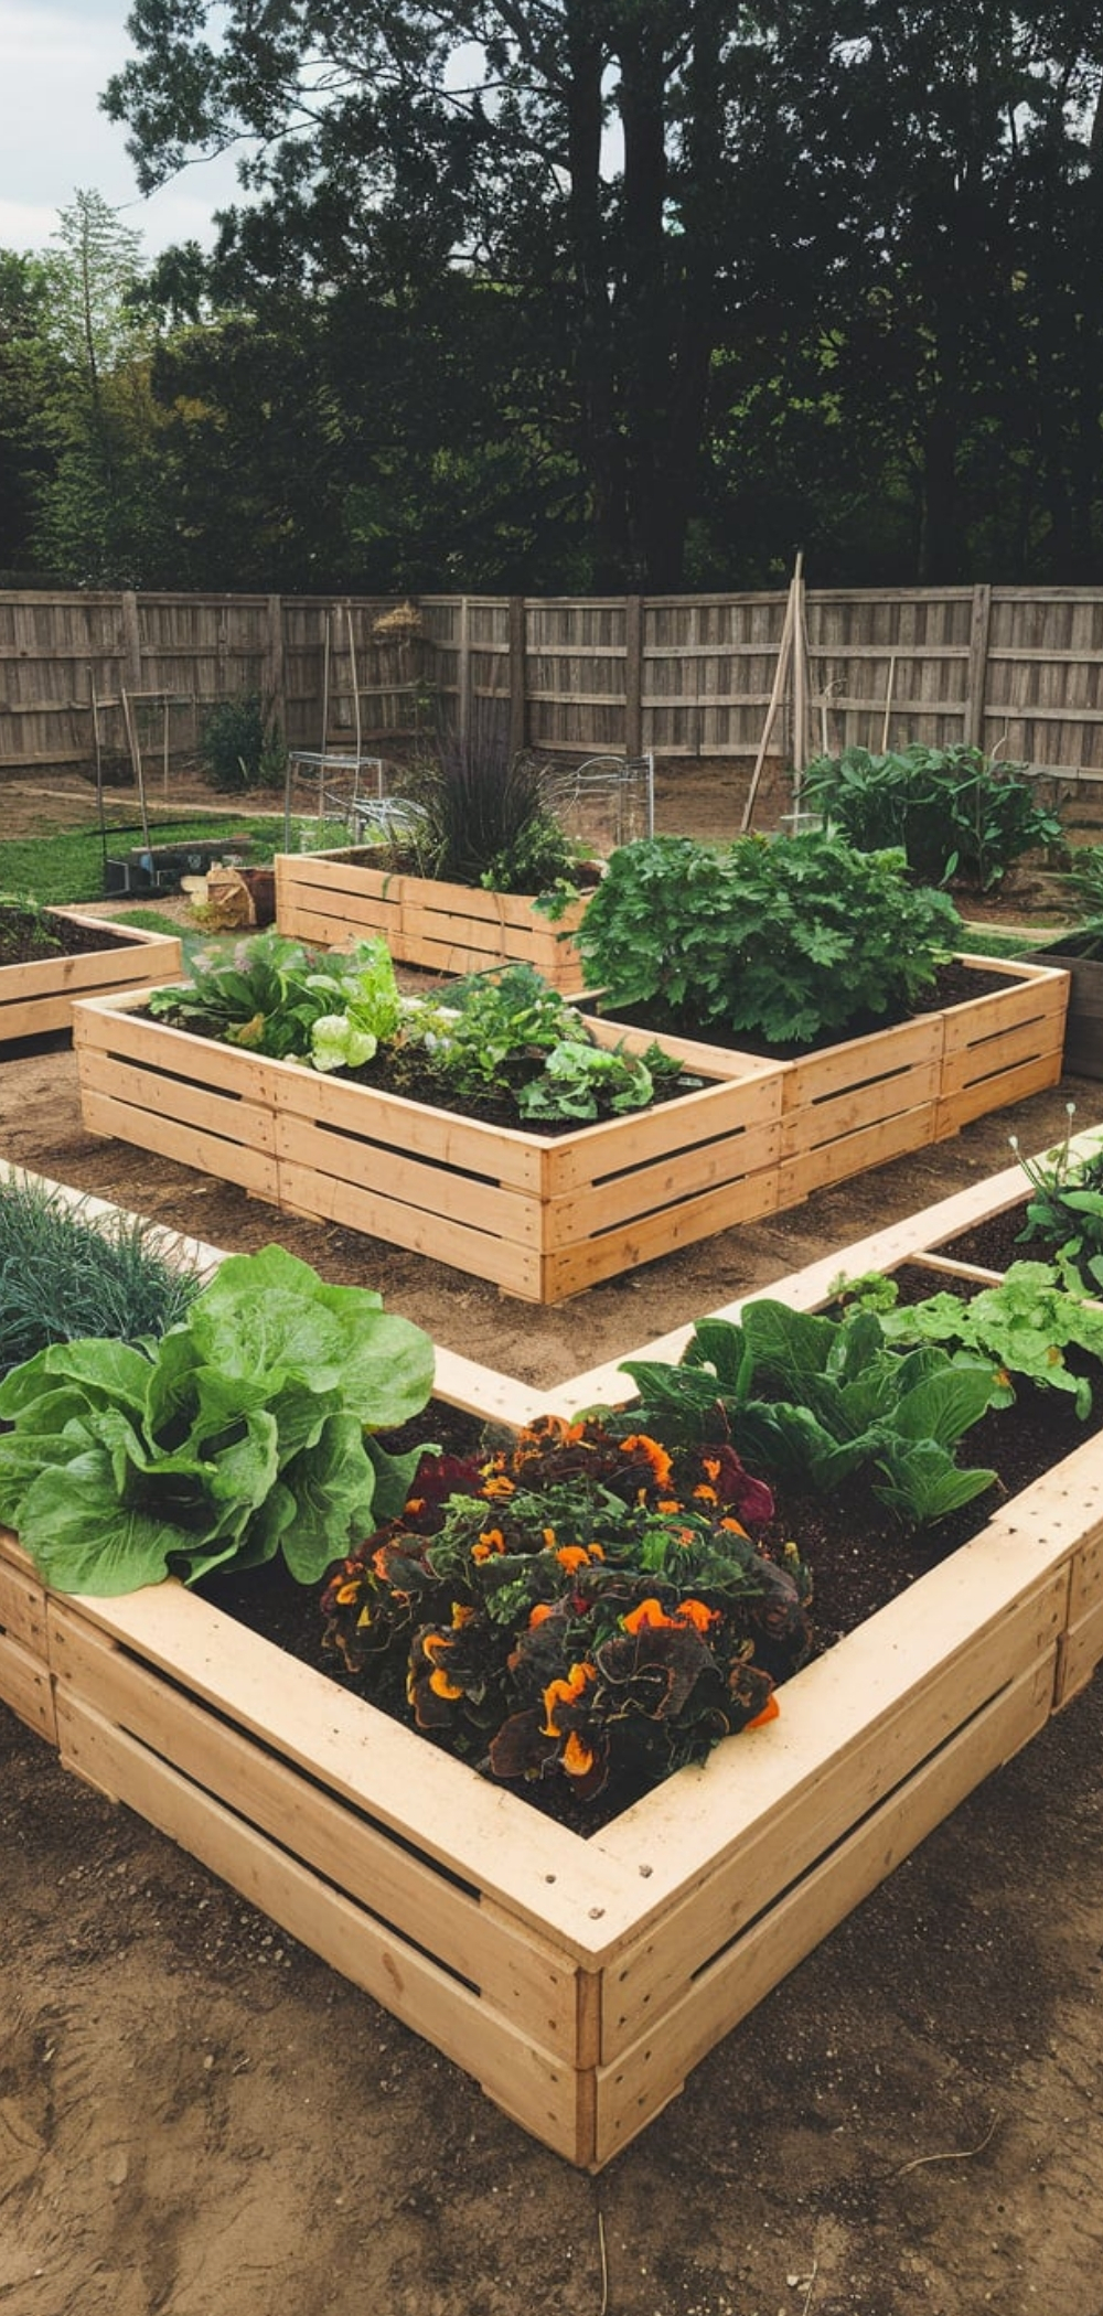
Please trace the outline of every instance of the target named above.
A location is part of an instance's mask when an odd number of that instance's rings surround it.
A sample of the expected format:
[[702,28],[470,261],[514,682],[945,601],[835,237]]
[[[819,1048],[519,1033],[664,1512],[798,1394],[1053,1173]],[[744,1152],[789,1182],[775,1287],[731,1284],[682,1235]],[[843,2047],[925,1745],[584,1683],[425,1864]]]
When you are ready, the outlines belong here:
[[[225,813],[192,813],[185,820],[151,822],[153,845],[211,841],[213,836],[225,838],[227,852],[232,850],[250,866],[262,866],[271,862],[273,852],[285,850],[283,818],[250,820],[248,813],[241,813],[241,820],[236,815],[229,820]],[[299,850],[299,843],[315,852],[320,845],[348,843],[348,831],[343,822],[320,824],[297,818],[290,824],[292,852]],[[107,829],[109,859],[127,859],[139,845],[141,827],[130,822],[125,829]],[[97,827],[60,829],[53,836],[16,836],[0,848],[0,887],[9,896],[30,896],[44,908],[102,901],[107,899],[104,836]]]

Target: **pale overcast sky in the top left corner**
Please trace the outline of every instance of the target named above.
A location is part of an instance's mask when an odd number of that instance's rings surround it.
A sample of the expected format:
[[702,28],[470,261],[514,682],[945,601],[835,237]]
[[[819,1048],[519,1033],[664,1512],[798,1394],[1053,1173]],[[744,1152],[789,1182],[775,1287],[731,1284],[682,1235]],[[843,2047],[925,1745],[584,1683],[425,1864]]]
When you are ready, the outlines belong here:
[[0,248],[49,248],[74,192],[118,208],[146,257],[169,241],[211,243],[211,213],[234,197],[232,160],[199,162],[141,199],[127,132],[100,111],[111,72],[132,56],[127,12],[130,0],[0,0]]

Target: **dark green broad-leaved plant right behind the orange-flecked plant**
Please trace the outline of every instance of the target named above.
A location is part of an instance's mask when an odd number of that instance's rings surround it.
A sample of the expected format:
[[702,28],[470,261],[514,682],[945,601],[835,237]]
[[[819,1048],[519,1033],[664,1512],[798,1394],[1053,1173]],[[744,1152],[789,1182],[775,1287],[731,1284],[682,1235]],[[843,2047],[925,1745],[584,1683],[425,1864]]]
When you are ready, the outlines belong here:
[[751,1471],[816,1496],[862,1478],[901,1522],[943,1519],[994,1485],[957,1443],[992,1406],[992,1364],[936,1343],[901,1357],[883,1315],[825,1318],[772,1297],[742,1322],[697,1320],[681,1362],[626,1359],[628,1422],[667,1441],[730,1441]]

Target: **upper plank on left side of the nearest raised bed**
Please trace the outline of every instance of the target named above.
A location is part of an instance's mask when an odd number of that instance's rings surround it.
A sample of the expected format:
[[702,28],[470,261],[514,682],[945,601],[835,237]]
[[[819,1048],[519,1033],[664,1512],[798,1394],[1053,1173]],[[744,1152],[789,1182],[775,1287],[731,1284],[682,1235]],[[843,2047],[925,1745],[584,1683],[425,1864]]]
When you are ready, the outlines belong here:
[[306,1779],[273,1746],[171,1688],[127,1649],[53,1605],[51,1651],[65,1700],[93,1707],[169,1760],[246,1825],[324,1874],[382,1925],[426,1948],[547,2050],[575,2052],[575,1969],[498,1904],[445,1876],[415,1846]]

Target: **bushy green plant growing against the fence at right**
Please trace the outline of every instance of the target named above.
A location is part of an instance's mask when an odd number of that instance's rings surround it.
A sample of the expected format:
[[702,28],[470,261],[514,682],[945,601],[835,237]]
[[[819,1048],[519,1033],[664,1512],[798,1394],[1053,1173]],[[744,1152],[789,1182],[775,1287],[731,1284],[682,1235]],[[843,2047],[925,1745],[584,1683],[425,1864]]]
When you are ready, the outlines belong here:
[[992,892],[1024,852],[1064,834],[1036,804],[1027,764],[966,746],[820,755],[802,774],[802,801],[862,852],[901,845],[922,885]]

